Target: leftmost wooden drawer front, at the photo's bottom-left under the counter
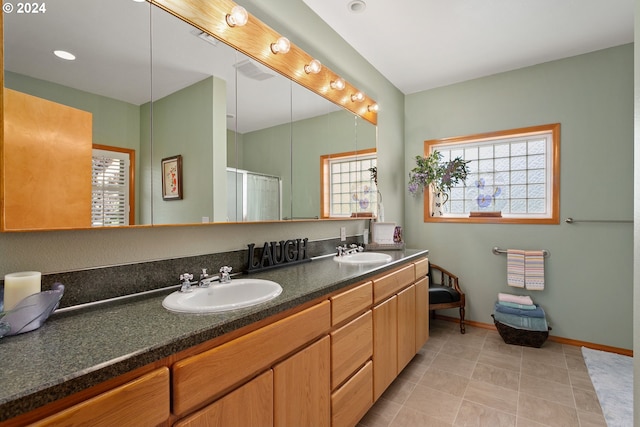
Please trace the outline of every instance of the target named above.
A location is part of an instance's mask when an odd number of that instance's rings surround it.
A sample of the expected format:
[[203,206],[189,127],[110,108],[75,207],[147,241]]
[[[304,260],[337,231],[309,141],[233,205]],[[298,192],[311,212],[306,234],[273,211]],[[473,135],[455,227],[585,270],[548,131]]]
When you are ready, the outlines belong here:
[[161,368],[33,426],[157,426],[169,418],[169,369]]

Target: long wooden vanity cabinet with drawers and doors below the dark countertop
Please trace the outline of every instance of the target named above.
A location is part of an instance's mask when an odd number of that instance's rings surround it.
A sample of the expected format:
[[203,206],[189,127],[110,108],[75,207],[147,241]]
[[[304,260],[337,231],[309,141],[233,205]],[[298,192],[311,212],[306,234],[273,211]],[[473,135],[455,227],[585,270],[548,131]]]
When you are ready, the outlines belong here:
[[48,416],[36,426],[354,427],[428,339],[427,268],[426,258],[405,264],[27,419]]

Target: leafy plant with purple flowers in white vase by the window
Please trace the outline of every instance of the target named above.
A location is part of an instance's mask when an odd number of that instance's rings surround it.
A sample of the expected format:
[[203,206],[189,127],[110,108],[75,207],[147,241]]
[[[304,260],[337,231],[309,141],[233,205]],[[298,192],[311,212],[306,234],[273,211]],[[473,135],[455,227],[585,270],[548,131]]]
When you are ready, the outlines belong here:
[[409,192],[416,196],[430,187],[431,216],[442,216],[442,206],[449,200],[451,188],[467,179],[469,162],[461,157],[443,162],[439,151],[416,156],[416,167],[409,172]]

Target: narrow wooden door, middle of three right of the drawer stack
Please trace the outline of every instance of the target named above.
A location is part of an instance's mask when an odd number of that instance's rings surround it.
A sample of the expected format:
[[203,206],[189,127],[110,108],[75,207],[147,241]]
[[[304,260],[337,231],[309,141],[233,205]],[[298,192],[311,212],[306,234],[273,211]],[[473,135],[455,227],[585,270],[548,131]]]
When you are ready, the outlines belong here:
[[416,287],[398,293],[398,374],[416,354]]

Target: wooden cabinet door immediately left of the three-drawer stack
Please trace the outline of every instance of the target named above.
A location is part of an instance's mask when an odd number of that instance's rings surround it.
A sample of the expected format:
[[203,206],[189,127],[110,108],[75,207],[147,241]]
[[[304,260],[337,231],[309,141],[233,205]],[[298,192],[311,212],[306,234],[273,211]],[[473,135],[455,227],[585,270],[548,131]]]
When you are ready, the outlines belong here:
[[329,426],[330,347],[325,336],[273,368],[275,426]]

